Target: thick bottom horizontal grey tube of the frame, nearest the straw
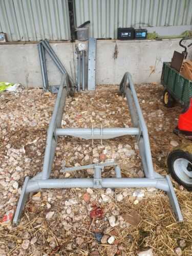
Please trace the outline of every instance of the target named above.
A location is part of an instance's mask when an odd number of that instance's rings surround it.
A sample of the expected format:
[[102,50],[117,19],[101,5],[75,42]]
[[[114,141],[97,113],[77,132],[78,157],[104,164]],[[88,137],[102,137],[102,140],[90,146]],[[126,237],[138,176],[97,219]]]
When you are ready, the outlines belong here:
[[[102,178],[102,188],[127,188],[127,187],[156,187],[164,191],[169,191],[168,182],[162,179],[147,178]],[[66,178],[66,179],[47,179],[30,180],[27,184],[26,192],[31,193],[44,188],[86,188],[94,187],[94,179],[90,178]]]

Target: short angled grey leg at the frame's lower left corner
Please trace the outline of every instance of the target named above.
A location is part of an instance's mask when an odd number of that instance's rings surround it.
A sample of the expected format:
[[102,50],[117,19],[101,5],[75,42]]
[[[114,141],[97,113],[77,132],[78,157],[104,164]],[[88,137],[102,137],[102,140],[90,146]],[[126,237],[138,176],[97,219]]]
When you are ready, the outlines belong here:
[[15,215],[14,215],[14,218],[13,218],[13,224],[14,225],[18,225],[19,220],[20,220],[20,216],[22,215],[22,211],[25,207],[25,203],[26,203],[26,201],[29,197],[29,193],[26,193],[26,188],[27,188],[28,181],[29,181],[29,177],[26,177],[25,181],[24,181],[23,188],[22,188],[22,193],[20,194],[18,204],[17,204],[17,208],[16,208],[16,211],[15,211]]

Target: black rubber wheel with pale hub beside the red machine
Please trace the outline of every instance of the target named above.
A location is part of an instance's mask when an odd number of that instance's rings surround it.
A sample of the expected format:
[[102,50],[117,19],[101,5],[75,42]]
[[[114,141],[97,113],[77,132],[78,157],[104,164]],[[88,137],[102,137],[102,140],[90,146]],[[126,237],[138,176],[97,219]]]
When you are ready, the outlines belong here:
[[187,190],[192,190],[192,155],[183,150],[169,153],[168,171],[172,178]]

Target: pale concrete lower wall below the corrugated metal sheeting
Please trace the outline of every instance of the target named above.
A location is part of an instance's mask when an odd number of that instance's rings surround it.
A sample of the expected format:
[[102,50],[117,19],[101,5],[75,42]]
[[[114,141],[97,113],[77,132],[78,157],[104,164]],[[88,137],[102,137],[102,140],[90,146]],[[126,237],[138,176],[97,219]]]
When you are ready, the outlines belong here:
[[[117,44],[118,56],[113,58]],[[76,54],[71,42],[51,44],[71,75]],[[174,50],[182,51],[179,39],[156,40],[98,40],[97,84],[117,84],[124,72],[129,71],[135,83],[160,82],[163,61],[170,61]],[[192,54],[192,53],[190,53]],[[47,56],[50,85],[59,84],[61,74]],[[73,71],[74,72],[74,71]],[[42,87],[36,44],[0,45],[0,81],[20,82],[26,87]]]

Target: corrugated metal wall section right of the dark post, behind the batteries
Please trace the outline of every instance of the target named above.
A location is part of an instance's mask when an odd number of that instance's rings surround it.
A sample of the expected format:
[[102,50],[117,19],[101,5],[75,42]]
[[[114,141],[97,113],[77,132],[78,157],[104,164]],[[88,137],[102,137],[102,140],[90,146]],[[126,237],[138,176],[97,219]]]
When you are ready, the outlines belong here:
[[118,27],[191,25],[192,0],[75,0],[75,13],[91,36],[117,38]]

